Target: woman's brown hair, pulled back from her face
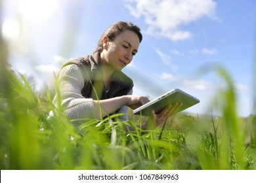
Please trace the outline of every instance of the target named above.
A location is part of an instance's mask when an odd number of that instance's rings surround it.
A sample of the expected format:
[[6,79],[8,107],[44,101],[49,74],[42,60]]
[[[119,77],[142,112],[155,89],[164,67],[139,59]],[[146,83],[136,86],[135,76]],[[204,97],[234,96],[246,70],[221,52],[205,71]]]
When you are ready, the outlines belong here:
[[103,38],[104,36],[107,36],[110,41],[114,41],[116,37],[122,33],[123,31],[133,31],[135,32],[138,37],[140,42],[142,41],[142,34],[140,33],[140,28],[137,27],[137,25],[132,24],[131,22],[116,22],[115,24],[110,25],[106,31],[102,34],[100,37],[100,40],[98,41],[98,47],[96,48],[95,52],[101,53],[103,50]]

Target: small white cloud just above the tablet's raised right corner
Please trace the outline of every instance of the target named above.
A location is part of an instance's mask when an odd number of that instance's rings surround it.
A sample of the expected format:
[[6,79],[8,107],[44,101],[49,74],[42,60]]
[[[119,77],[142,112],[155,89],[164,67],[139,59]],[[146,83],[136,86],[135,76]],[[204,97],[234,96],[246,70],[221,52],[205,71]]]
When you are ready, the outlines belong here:
[[195,90],[211,90],[213,89],[213,84],[205,80],[183,80],[185,86],[190,86]]

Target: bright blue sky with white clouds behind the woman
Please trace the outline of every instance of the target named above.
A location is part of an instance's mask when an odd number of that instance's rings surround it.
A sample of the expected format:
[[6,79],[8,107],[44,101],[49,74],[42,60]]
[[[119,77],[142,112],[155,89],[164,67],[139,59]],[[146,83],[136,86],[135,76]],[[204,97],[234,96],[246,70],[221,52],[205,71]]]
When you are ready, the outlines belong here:
[[188,112],[218,114],[213,99],[225,82],[213,67],[202,68],[221,65],[232,77],[239,114],[252,112],[255,0],[3,0],[2,8],[9,61],[36,88],[52,86],[68,59],[92,54],[103,31],[121,20],[143,34],[123,69],[135,82],[134,95],[153,99],[181,88],[201,101]]

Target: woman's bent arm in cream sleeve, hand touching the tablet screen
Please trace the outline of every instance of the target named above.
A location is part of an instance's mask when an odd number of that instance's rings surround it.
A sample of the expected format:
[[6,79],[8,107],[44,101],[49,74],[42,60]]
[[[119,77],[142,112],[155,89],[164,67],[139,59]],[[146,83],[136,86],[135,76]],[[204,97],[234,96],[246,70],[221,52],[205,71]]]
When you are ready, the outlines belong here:
[[[100,119],[125,105],[137,108],[149,101],[147,97],[133,95],[124,95],[100,101],[85,98],[81,95],[84,79],[77,65],[67,65],[61,69],[58,75],[58,85],[61,105],[69,119]],[[53,100],[55,105],[58,101],[57,99],[58,96],[55,96]]]

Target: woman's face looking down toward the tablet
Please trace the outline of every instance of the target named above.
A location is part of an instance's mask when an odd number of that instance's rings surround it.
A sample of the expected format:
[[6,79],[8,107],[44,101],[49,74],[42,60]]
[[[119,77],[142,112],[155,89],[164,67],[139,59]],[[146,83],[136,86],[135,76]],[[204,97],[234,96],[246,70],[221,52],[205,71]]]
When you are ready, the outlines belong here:
[[126,65],[131,63],[133,56],[137,54],[139,48],[139,37],[133,31],[123,31],[114,41],[104,37],[103,51],[100,54],[104,63],[117,71],[121,71]]

